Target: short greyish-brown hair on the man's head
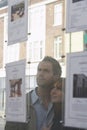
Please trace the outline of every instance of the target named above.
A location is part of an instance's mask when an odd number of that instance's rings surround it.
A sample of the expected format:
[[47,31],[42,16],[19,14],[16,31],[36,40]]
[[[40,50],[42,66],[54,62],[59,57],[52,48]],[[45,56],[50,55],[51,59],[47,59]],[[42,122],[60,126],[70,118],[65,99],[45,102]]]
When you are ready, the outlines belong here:
[[45,56],[43,58],[42,62],[43,61],[50,62],[52,64],[54,74],[58,75],[58,76],[61,76],[61,73],[62,73],[61,66],[60,66],[59,62],[56,59],[54,59],[51,56]]

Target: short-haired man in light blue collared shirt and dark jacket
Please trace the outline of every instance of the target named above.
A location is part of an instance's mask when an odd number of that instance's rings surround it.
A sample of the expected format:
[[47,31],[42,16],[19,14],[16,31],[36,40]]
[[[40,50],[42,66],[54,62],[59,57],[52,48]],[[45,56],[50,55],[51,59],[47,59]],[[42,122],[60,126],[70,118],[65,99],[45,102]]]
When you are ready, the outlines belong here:
[[60,76],[61,67],[58,61],[46,56],[38,65],[38,87],[27,96],[28,123],[7,122],[5,130],[42,130],[49,126],[54,116],[50,90]]

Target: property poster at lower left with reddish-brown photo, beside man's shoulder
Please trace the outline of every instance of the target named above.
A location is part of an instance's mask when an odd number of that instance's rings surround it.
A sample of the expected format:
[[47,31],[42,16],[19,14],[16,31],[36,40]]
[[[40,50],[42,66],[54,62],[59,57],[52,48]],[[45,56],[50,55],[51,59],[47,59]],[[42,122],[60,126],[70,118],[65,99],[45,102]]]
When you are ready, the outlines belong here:
[[6,64],[6,120],[26,122],[25,60]]

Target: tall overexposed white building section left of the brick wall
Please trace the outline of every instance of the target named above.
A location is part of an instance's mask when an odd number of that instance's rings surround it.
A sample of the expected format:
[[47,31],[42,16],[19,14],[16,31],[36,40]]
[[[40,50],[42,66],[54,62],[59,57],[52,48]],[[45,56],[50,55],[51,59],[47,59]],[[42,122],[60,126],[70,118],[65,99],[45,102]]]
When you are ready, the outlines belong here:
[[27,60],[39,61],[45,50],[45,5],[32,7],[29,10],[29,32],[27,41]]

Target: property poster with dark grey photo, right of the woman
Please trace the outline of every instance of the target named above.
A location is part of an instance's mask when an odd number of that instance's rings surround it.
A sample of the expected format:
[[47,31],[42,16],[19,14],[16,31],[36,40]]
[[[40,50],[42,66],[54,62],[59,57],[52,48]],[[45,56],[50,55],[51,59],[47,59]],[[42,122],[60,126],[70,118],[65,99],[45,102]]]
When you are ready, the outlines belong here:
[[87,128],[87,51],[67,54],[64,125]]

